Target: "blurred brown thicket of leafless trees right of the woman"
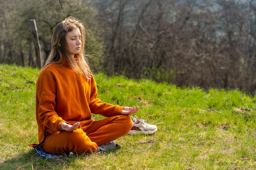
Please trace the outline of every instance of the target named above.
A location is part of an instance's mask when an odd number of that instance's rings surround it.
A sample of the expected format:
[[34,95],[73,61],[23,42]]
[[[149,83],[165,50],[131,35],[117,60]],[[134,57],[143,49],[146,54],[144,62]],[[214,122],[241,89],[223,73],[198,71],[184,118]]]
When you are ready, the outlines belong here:
[[104,0],[98,7],[109,74],[255,90],[253,0]]

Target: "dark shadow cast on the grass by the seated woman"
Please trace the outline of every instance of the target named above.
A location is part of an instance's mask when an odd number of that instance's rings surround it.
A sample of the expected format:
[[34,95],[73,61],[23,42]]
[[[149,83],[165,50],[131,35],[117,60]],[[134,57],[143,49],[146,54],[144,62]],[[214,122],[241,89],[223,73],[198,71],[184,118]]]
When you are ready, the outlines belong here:
[[11,159],[7,159],[3,163],[0,163],[0,170],[76,169],[77,160],[85,161],[85,159],[88,159],[89,157],[93,158],[95,155],[108,155],[110,152],[115,153],[116,150],[101,152],[100,154],[72,154],[69,156],[60,156],[58,158],[45,158],[38,155],[36,150],[31,148],[28,152],[13,156]]

